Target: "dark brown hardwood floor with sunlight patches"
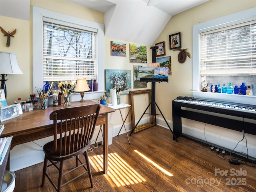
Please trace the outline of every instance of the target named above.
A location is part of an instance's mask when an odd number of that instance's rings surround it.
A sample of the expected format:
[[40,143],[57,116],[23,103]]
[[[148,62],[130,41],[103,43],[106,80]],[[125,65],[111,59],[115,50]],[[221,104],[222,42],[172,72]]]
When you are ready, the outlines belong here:
[[[108,174],[102,174],[102,146],[89,153],[94,188],[88,174],[62,188],[63,192],[253,192],[256,191],[256,167],[232,165],[229,155],[216,154],[210,147],[178,138],[160,126],[129,137],[114,137],[109,146]],[[69,160],[65,169],[72,168]],[[250,166],[249,166],[250,165]],[[43,163],[18,170],[14,192],[54,192],[46,179],[41,188]],[[225,174],[225,170],[228,172]],[[82,170],[81,170],[82,171]],[[56,169],[52,176],[58,178]],[[72,174],[71,176],[74,176]],[[68,177],[68,175],[66,176]],[[64,177],[65,179],[65,177]]]

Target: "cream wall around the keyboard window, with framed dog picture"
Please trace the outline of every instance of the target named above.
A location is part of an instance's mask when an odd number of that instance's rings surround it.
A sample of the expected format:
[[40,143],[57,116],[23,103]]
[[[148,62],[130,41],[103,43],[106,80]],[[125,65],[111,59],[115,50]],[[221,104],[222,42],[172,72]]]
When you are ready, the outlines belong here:
[[[172,16],[170,21],[156,39],[157,42],[165,41],[166,56],[172,56],[172,72],[168,83],[156,85],[156,103],[164,114],[165,118],[172,120],[171,101],[177,96],[192,96],[192,58],[186,58],[183,64],[178,62],[179,51],[169,49],[169,35],[181,32],[182,48],[187,48],[192,56],[192,26],[200,22],[205,22],[219,18],[228,14],[240,12],[256,6],[253,0],[210,0],[204,4],[196,6],[190,10]],[[164,102],[163,102],[164,101]],[[205,124],[184,119],[182,124],[204,130]],[[216,126],[206,125],[205,130],[226,138],[241,140],[242,133]],[[248,144],[256,146],[256,136],[247,136]],[[243,141],[244,142],[244,141]]]

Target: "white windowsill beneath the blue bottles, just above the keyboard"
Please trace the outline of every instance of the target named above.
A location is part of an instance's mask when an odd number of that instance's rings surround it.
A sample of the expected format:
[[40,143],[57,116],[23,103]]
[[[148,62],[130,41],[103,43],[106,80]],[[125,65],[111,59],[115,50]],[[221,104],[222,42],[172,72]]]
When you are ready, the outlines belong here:
[[192,91],[194,98],[256,105],[256,96]]

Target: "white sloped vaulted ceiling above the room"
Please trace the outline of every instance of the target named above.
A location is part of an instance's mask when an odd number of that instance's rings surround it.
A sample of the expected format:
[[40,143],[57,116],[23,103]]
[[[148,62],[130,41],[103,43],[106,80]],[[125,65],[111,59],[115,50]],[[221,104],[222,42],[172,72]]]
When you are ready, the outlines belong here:
[[[68,0],[104,13],[105,36],[153,45],[170,18],[208,0]],[[0,15],[30,20],[29,0],[0,0]]]

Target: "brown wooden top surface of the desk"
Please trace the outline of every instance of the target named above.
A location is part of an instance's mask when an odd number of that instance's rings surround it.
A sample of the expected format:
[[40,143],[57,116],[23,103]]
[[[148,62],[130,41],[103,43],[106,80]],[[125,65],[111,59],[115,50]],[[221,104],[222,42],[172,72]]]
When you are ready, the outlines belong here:
[[[2,137],[9,136],[10,134],[17,134],[22,132],[29,132],[35,129],[45,128],[47,126],[51,126],[53,121],[50,120],[50,113],[66,107],[76,107],[83,105],[91,105],[96,104],[96,102],[92,100],[86,100],[85,102],[72,102],[71,106],[58,106],[53,107],[52,105],[48,106],[47,109],[44,110],[32,110],[28,112],[24,112],[20,114],[20,116],[1,122],[0,124],[4,124],[4,130],[2,132]],[[110,108],[108,106],[104,106],[102,104],[100,108],[99,115],[108,114],[110,112],[114,112],[115,109]]]

